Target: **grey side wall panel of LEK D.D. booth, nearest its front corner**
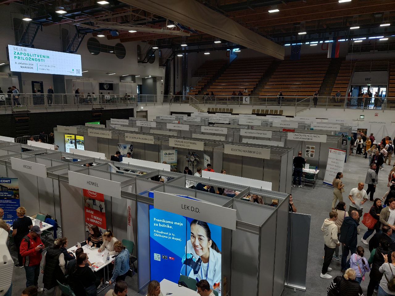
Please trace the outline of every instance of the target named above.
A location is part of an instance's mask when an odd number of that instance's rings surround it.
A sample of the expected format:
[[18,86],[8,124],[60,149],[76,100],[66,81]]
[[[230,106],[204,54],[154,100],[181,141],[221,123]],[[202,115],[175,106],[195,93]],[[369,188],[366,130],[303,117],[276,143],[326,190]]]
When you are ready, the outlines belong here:
[[276,254],[276,214],[267,219],[261,227],[260,234],[260,253],[259,258],[259,278],[258,278],[258,296],[279,296],[273,293],[274,265],[275,256],[284,256],[284,253]]

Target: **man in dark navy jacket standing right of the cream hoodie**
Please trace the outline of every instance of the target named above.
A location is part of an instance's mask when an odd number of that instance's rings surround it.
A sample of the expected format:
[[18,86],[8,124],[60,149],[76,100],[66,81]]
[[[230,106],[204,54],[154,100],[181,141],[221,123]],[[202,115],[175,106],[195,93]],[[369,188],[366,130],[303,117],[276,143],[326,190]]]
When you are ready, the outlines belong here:
[[[361,183],[359,183],[361,184]],[[359,214],[357,211],[351,211],[351,217],[345,217],[340,227],[339,241],[343,244],[342,253],[342,272],[344,272],[350,266],[350,262],[347,262],[348,253],[351,255],[357,251],[357,226],[359,221]]]

